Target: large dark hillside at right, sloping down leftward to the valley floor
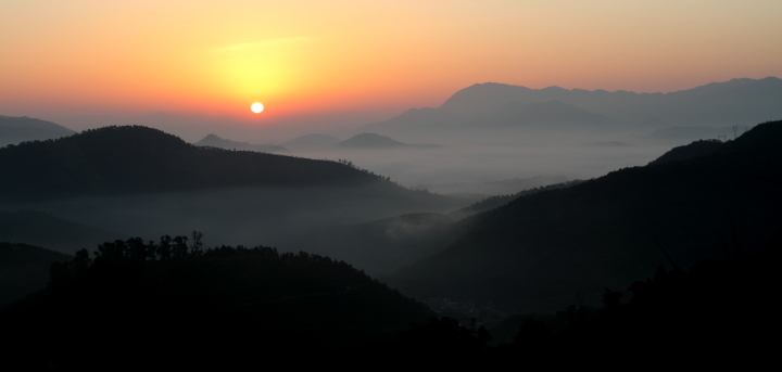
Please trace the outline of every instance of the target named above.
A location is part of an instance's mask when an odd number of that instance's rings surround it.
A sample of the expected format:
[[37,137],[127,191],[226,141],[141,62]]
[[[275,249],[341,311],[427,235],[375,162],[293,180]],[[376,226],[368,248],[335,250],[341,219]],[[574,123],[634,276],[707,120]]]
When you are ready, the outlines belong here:
[[760,246],[782,226],[782,190],[761,180],[782,180],[780,140],[782,121],[765,123],[710,154],[518,197],[392,283],[417,298],[547,311],[652,274],[666,262],[656,241],[682,267],[724,255],[732,231]]

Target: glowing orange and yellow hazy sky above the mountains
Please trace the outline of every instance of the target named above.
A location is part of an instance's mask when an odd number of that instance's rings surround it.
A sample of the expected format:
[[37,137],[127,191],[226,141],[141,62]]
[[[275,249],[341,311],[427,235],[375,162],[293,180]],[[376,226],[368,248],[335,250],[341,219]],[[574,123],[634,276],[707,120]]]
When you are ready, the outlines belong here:
[[263,124],[485,81],[672,91],[782,77],[781,17],[771,0],[2,0],[0,114]]

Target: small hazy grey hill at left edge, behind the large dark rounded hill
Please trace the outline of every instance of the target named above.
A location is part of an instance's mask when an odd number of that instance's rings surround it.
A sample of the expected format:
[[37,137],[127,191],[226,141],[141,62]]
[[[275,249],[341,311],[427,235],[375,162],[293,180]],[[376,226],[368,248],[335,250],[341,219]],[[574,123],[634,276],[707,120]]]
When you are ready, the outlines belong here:
[[0,147],[24,141],[43,141],[74,134],[75,131],[51,121],[27,116],[0,115]]

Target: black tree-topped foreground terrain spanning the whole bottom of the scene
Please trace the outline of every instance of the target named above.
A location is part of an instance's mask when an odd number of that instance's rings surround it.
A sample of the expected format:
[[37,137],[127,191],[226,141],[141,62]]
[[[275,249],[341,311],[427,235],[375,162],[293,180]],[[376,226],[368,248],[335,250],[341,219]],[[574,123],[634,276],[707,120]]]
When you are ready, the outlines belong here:
[[[0,311],[4,361],[27,369],[265,365],[583,367],[759,362],[772,355],[782,234],[748,255],[670,261],[601,307],[516,317],[509,344],[437,319],[348,264],[267,247],[202,249],[199,234],[80,251]],[[370,364],[365,364],[370,363]],[[510,363],[510,364],[508,364]],[[519,364],[521,363],[521,364]]]

